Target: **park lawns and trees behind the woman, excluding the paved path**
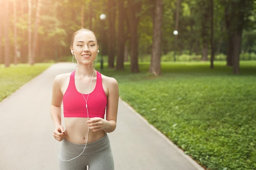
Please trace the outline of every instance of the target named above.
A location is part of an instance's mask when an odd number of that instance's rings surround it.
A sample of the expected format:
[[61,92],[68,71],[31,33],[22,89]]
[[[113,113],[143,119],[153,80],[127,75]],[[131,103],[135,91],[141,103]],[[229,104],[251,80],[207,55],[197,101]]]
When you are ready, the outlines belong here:
[[88,28],[97,69],[150,124],[206,169],[256,169],[255,0],[0,6],[0,100],[53,62],[70,62],[72,33]]

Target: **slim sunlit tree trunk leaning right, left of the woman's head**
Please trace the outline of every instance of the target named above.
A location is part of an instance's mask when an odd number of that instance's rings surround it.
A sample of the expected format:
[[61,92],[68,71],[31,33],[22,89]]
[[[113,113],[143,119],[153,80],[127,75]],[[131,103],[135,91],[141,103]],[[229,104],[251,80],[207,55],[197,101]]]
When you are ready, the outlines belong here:
[[38,27],[40,24],[40,7],[41,7],[41,0],[38,0],[36,5],[36,20],[34,24],[34,37],[33,37],[32,56],[31,56],[32,61],[30,63],[31,65],[35,63],[35,59],[36,59],[36,48],[38,46],[38,42],[37,42]]

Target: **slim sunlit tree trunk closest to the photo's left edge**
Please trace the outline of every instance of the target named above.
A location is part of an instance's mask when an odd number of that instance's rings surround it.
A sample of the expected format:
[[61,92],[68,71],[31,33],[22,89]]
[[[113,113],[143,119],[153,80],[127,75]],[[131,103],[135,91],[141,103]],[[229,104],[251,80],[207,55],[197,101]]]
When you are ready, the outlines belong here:
[[4,8],[4,64],[10,66],[10,40],[9,40],[9,1],[5,2]]

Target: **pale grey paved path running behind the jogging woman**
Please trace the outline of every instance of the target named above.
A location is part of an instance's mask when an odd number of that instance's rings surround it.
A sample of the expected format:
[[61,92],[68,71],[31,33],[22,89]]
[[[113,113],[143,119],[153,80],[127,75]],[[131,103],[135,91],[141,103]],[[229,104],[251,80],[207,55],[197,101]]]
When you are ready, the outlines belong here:
[[[0,102],[0,170],[58,170],[52,81],[71,71],[70,63],[54,64]],[[115,170],[203,170],[121,99],[117,129],[108,135]]]

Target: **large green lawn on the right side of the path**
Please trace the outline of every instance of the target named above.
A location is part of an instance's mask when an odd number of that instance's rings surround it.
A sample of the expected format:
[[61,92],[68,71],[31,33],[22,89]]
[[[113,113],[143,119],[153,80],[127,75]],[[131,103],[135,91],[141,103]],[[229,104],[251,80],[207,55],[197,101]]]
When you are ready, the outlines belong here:
[[162,75],[103,70],[120,97],[208,170],[256,169],[256,62],[169,62]]

